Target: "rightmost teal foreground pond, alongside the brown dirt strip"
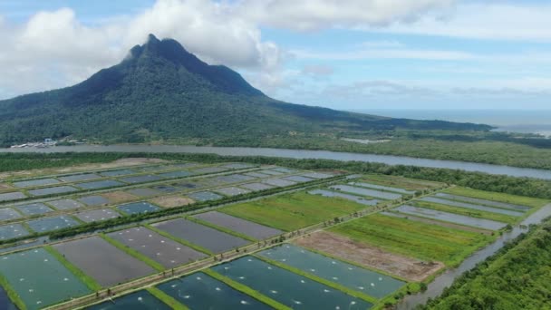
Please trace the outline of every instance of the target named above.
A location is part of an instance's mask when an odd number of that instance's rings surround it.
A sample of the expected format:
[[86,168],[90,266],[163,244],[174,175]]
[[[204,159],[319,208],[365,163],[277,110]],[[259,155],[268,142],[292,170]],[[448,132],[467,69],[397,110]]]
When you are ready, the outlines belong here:
[[266,249],[258,255],[376,298],[389,295],[406,284],[391,276],[385,276],[331,257],[324,257],[303,247],[290,244]]

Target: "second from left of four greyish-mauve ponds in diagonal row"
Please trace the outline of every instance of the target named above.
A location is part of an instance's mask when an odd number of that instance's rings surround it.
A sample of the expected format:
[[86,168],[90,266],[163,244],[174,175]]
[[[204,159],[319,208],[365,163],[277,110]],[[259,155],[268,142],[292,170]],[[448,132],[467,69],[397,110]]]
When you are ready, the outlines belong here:
[[107,236],[150,257],[166,268],[189,264],[207,257],[206,254],[163,237],[148,228],[129,228],[112,232]]

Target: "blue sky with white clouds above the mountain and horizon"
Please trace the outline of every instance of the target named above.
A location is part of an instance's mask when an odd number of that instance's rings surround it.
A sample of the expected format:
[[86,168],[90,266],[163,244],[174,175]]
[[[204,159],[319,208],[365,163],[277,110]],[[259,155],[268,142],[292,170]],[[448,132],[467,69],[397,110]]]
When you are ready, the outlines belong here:
[[2,0],[0,99],[82,82],[148,34],[285,102],[551,110],[546,0]]

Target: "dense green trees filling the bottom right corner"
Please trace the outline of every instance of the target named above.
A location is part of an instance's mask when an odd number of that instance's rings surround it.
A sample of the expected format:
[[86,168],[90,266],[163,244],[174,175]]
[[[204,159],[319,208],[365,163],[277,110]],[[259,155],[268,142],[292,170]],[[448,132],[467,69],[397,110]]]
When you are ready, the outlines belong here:
[[422,309],[551,308],[551,220],[502,247]]

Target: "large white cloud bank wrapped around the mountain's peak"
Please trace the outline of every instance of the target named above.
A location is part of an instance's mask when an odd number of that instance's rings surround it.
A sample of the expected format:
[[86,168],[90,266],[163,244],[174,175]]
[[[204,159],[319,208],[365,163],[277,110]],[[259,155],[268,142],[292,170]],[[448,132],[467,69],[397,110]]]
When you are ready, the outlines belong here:
[[103,67],[119,63],[147,34],[178,40],[208,63],[276,74],[285,58],[262,40],[260,30],[233,6],[201,0],[158,0],[138,15],[85,26],[70,8],[38,12],[24,24],[0,19],[0,97],[81,82]]

